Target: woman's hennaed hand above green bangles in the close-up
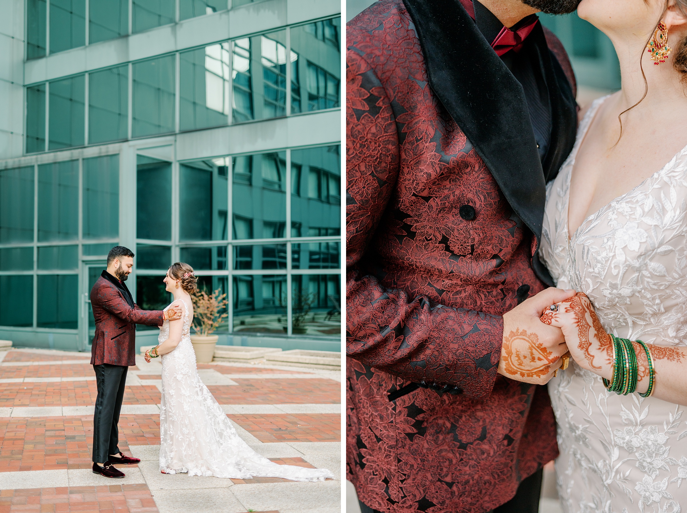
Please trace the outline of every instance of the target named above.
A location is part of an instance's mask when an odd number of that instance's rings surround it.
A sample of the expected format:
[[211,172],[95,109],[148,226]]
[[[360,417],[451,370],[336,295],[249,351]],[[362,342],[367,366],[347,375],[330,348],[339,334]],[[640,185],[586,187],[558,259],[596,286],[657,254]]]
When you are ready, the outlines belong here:
[[[550,306],[556,306],[557,310],[551,310]],[[613,341],[601,326],[585,293],[580,292],[558,304],[546,306],[541,322],[561,328],[577,365],[594,374],[610,376]]]

